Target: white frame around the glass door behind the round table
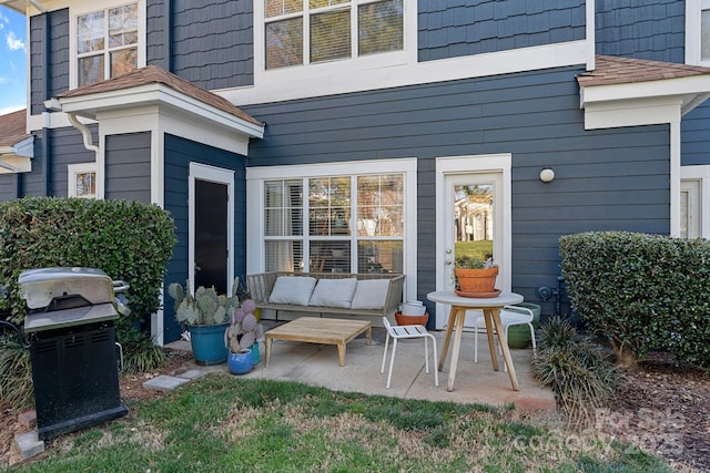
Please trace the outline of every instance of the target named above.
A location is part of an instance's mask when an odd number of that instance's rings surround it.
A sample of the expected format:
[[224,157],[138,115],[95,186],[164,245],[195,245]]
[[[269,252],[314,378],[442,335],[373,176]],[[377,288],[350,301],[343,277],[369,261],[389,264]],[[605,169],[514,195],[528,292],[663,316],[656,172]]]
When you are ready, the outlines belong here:
[[[454,223],[447,222],[453,208],[452,196],[448,195],[448,177],[466,174],[496,174],[500,177],[495,194],[494,232],[496,236],[494,259],[499,267],[496,287],[504,291],[511,289],[511,192],[510,168],[513,155],[509,153],[485,154],[470,156],[444,156],[436,158],[436,228],[453,228]],[[436,233],[436,290],[452,289],[453,255],[450,249],[450,229]],[[449,264],[447,264],[447,261]],[[436,305],[437,329],[445,327],[448,320],[449,306]]]

